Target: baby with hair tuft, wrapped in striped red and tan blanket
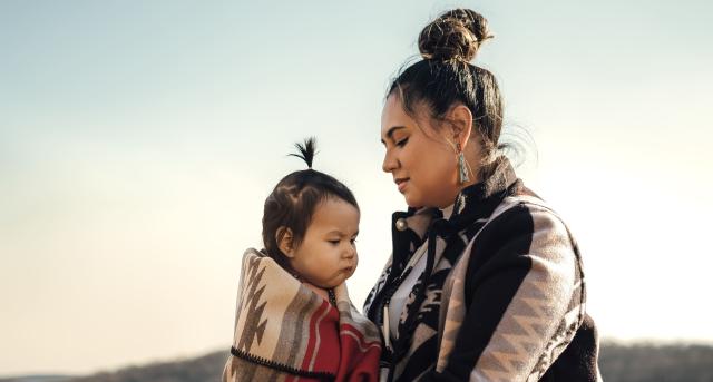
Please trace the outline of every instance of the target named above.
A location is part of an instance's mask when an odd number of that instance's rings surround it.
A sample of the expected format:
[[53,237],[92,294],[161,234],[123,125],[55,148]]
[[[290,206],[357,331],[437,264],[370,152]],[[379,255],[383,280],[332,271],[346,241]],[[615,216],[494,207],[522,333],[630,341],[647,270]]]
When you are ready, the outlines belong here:
[[309,169],[265,200],[265,248],[243,255],[235,335],[223,381],[377,381],[380,334],[349,300],[359,206],[313,170],[314,139],[296,145]]

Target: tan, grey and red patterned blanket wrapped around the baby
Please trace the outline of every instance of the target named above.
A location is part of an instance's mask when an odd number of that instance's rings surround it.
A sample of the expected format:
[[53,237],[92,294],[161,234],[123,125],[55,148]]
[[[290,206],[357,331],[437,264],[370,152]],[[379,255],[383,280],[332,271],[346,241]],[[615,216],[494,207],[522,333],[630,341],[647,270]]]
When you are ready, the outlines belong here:
[[243,255],[223,381],[377,381],[377,326],[334,290],[336,307],[262,252]]

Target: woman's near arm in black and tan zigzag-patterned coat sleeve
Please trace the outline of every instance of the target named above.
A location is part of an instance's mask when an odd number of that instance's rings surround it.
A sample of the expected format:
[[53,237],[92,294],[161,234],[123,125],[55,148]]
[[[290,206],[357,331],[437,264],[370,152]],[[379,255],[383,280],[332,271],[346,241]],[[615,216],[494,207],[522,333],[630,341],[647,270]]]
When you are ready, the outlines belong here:
[[584,313],[576,247],[561,221],[522,205],[479,234],[465,281],[467,313],[438,381],[538,380]]

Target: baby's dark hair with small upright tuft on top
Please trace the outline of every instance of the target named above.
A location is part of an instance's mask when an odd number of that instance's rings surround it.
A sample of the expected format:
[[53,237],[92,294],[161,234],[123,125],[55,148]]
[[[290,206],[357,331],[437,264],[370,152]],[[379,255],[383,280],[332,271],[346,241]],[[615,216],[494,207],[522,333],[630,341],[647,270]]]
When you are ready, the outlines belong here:
[[290,154],[304,159],[307,169],[289,174],[277,183],[265,199],[263,212],[263,243],[265,252],[283,268],[291,271],[285,254],[277,243],[289,228],[292,232],[294,246],[299,246],[312,221],[314,209],[328,198],[339,198],[356,209],[356,198],[352,192],[335,178],[312,169],[312,159],[316,154],[314,138],[304,140],[304,145],[295,144],[299,154]]

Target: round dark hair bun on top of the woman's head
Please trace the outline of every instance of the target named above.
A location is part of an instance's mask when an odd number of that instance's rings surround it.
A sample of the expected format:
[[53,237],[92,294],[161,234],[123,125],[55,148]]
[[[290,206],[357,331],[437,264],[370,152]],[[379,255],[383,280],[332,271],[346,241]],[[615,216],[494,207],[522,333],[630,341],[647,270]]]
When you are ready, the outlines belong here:
[[492,38],[488,20],[470,9],[453,9],[431,21],[419,36],[423,59],[470,62],[482,41]]

